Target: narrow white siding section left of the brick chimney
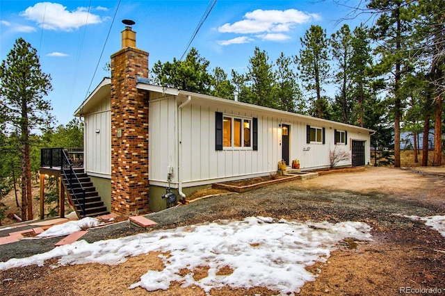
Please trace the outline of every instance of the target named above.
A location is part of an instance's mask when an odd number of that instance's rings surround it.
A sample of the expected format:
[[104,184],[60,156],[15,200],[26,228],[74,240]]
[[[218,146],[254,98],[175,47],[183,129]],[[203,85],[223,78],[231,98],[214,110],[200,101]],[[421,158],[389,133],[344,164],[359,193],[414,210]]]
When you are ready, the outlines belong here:
[[111,178],[111,110],[106,98],[84,115],[84,167],[88,174]]

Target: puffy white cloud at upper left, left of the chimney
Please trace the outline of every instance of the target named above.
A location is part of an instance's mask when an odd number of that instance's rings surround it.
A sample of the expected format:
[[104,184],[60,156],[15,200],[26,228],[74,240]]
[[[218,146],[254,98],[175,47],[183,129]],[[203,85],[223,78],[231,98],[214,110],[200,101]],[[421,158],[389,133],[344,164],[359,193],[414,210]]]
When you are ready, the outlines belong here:
[[48,30],[72,31],[86,24],[99,24],[103,21],[99,15],[88,13],[87,8],[79,7],[69,11],[59,3],[40,2],[26,8],[22,17],[37,22]]

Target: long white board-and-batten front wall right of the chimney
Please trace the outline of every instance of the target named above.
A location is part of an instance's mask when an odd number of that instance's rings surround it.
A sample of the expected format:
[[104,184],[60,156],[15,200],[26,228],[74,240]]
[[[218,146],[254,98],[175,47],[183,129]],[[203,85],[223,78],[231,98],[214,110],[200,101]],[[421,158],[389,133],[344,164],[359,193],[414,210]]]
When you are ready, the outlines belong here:
[[[337,149],[350,153],[351,140],[367,141],[365,151],[366,160],[369,161],[369,132],[359,133],[354,126],[348,129],[335,122],[274,110],[261,112],[253,108],[250,110],[249,106],[235,105],[233,101],[221,104],[220,101],[202,98],[192,98],[190,103],[178,110],[185,100],[186,97],[171,96],[150,101],[149,180],[153,185],[165,185],[169,167],[173,167],[171,182],[175,187],[178,165],[184,187],[276,172],[277,163],[282,159],[282,124],[290,126],[289,160],[298,159],[302,170],[329,167],[330,151],[337,146]],[[256,117],[258,150],[227,147],[217,150],[217,112],[248,119]],[[325,144],[307,143],[307,125],[325,128]],[[335,129],[347,131],[346,144],[334,144]],[[350,161],[343,161],[339,165],[350,165]]]

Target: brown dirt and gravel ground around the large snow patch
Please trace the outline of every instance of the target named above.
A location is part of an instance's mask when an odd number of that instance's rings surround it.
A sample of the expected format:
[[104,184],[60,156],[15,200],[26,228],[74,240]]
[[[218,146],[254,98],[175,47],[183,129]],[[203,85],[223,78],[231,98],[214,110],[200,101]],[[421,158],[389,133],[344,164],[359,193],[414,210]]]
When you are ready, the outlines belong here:
[[[159,223],[154,229],[254,215],[286,220],[366,222],[372,227],[373,241],[359,244],[348,240],[341,242],[327,263],[316,263],[307,268],[318,277],[307,282],[300,295],[399,295],[406,287],[439,288],[445,293],[445,238],[423,222],[401,216],[444,215],[444,178],[439,170],[423,174],[420,169],[366,167],[364,172],[326,174],[316,179],[280,183],[243,194],[197,199],[186,206],[147,217]],[[92,242],[141,231],[128,224],[118,224],[89,231],[85,237]],[[15,250],[8,250],[5,246],[8,245],[0,246],[2,261],[13,257],[10,255],[13,252],[17,256],[27,256],[25,250],[32,249],[29,245],[16,245]],[[39,252],[39,248],[35,248],[35,252]],[[40,246],[40,252],[44,248]],[[169,290],[153,293],[143,288],[129,290],[131,283],[138,281],[147,270],[164,268],[157,255],[140,255],[120,265],[85,264],[52,269],[50,265],[54,262],[47,262],[43,267],[13,268],[0,272],[0,294],[205,295],[198,287],[181,288],[180,283],[170,286]],[[192,272],[197,279],[205,277],[205,263]],[[230,273],[231,270],[227,268],[220,272]],[[277,293],[267,287],[250,290],[227,287],[211,290],[210,294]]]

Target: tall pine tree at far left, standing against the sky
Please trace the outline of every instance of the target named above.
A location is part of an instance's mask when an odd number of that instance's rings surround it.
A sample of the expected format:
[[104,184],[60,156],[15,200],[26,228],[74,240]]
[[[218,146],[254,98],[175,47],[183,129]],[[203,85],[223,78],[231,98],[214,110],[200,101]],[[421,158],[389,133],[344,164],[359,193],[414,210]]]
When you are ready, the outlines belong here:
[[37,51],[23,38],[0,66],[0,117],[18,131],[22,160],[22,219],[33,219],[31,195],[31,133],[52,122],[51,105],[43,99],[51,90],[51,77],[40,69]]

